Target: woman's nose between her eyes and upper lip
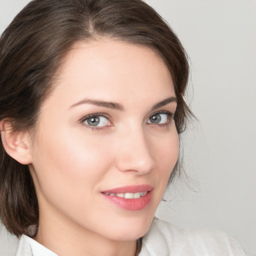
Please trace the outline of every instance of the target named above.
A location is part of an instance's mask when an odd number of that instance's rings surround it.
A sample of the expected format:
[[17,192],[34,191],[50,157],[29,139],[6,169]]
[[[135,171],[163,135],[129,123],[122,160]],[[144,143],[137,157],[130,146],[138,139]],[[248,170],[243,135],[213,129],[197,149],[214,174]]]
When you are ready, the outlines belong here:
[[142,129],[124,131],[119,138],[116,167],[120,171],[146,174],[156,166],[153,144]]

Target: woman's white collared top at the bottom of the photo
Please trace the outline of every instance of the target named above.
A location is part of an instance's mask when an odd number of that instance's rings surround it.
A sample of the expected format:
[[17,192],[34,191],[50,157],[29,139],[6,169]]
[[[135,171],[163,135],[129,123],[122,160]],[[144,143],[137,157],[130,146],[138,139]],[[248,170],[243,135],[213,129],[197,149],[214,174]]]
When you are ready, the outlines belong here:
[[[216,229],[177,228],[154,218],[142,238],[139,256],[244,256],[232,236]],[[16,256],[57,256],[34,239],[22,235]]]

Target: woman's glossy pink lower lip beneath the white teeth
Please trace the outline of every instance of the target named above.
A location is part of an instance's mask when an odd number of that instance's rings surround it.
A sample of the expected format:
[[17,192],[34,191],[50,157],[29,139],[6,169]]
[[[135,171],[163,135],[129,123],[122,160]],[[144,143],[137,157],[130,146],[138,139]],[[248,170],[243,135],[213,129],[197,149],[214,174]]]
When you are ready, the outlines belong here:
[[126,209],[126,210],[141,210],[143,209],[151,200],[152,191],[147,191],[144,196],[139,198],[132,198],[127,199],[124,197],[119,197],[116,195],[108,195],[102,193],[102,195],[108,199],[109,201],[113,202],[117,206]]

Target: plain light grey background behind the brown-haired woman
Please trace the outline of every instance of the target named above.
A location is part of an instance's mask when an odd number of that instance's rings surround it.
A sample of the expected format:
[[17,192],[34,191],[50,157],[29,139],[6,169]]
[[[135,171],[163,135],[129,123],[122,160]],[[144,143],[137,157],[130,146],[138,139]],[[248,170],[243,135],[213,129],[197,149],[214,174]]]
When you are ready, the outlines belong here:
[[[28,0],[0,0],[0,32]],[[191,61],[187,102],[198,122],[183,138],[184,168],[157,216],[213,227],[256,255],[255,0],[146,0],[176,31]],[[194,190],[194,191],[193,191]],[[12,238],[0,232],[1,248]],[[6,246],[5,246],[6,247]]]

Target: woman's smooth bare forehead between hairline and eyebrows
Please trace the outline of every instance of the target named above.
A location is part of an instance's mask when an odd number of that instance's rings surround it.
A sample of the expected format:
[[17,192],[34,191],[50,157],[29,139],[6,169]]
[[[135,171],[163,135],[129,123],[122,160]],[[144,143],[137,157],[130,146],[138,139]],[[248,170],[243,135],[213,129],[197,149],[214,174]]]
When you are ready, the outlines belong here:
[[81,96],[118,102],[121,95],[140,100],[148,94],[175,95],[168,68],[154,50],[115,40],[74,44],[59,69],[55,91],[74,102]]

